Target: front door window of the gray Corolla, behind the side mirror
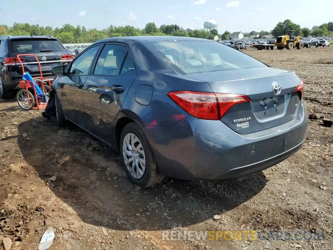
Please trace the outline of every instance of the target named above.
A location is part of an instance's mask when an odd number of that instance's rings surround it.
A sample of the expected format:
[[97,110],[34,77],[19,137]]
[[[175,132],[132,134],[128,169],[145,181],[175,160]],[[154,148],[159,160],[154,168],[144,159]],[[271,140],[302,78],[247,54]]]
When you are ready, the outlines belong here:
[[89,68],[100,46],[92,47],[80,54],[70,69],[71,75],[88,75]]

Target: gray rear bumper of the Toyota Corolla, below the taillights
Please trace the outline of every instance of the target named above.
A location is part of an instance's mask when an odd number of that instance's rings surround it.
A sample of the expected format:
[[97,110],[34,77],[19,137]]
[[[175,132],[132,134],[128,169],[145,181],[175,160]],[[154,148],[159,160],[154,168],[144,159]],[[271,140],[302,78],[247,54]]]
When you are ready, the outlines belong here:
[[147,137],[165,176],[239,177],[269,168],[302,147],[308,125],[302,103],[294,120],[251,134],[238,134],[220,121],[189,116],[169,127],[149,127]]

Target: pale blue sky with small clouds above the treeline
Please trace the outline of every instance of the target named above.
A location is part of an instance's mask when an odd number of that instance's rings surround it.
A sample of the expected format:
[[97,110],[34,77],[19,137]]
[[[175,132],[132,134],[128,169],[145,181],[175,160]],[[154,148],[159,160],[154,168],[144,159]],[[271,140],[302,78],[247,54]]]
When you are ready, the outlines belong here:
[[185,29],[200,29],[204,21],[213,19],[219,33],[223,33],[269,31],[287,18],[308,28],[333,21],[331,0],[30,0],[24,8],[21,5],[21,12],[17,6],[18,1],[0,6],[0,24],[11,26],[15,21],[55,28],[70,23],[103,29],[111,24],[144,28],[153,21],[158,27],[178,24]]

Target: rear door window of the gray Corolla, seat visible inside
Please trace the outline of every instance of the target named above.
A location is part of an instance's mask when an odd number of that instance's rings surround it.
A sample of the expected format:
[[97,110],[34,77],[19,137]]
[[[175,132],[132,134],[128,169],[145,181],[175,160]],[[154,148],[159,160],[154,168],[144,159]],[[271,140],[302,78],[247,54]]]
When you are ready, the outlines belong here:
[[119,75],[127,54],[125,46],[106,44],[97,60],[94,75]]

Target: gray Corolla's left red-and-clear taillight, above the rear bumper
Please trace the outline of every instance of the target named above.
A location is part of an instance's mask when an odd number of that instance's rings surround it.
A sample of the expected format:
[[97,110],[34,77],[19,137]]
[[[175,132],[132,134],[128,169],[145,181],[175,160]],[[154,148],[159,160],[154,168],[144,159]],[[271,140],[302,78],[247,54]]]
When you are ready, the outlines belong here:
[[231,106],[250,101],[238,94],[174,91],[167,95],[188,114],[204,120],[220,120]]

